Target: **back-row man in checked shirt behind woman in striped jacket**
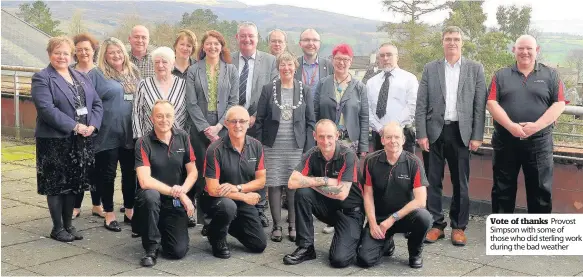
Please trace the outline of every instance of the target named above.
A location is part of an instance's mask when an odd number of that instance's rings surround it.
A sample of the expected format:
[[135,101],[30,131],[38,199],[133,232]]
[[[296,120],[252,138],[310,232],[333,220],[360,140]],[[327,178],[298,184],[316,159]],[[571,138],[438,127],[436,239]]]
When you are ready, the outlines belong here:
[[143,25],[132,28],[128,38],[130,42],[130,60],[140,70],[142,79],[154,76],[154,64],[152,56],[148,53],[150,43],[150,31]]

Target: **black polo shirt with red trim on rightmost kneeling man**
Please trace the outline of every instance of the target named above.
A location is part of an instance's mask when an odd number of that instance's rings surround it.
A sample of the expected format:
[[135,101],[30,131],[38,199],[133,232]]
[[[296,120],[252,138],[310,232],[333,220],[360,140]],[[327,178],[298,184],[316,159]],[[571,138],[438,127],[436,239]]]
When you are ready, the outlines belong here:
[[372,186],[375,215],[383,221],[414,199],[413,189],[427,187],[429,182],[421,160],[407,151],[401,152],[394,165],[385,150],[369,154],[364,161],[362,183]]

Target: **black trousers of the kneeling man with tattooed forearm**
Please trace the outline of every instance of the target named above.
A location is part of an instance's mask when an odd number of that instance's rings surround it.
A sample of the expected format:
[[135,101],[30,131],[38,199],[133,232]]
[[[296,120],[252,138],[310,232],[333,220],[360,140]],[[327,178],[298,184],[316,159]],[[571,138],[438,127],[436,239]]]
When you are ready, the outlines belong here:
[[311,188],[296,190],[296,245],[314,245],[314,219],[334,226],[334,237],[330,245],[330,264],[333,267],[347,267],[356,259],[364,223],[364,209],[341,209],[341,201],[330,199]]

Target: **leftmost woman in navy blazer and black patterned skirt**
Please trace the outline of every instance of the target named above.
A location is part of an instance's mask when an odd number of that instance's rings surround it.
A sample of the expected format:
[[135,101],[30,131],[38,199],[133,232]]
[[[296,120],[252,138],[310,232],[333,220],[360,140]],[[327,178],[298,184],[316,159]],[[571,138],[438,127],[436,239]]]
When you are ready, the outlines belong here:
[[103,107],[91,80],[69,68],[73,42],[49,39],[50,64],[32,76],[36,118],[37,191],[47,196],[53,221],[50,237],[83,239],[72,225],[78,194],[95,190],[89,173],[95,165],[92,136],[101,127]]

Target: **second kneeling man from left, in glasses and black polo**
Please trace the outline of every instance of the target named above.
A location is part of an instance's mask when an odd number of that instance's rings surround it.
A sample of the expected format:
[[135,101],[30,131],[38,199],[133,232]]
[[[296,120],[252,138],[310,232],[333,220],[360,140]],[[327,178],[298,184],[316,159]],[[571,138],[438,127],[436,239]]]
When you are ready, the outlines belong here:
[[261,199],[256,191],[265,186],[266,171],[263,145],[247,136],[247,110],[242,106],[231,107],[224,125],[228,135],[211,143],[206,152],[206,187],[201,202],[211,217],[207,238],[213,255],[228,259],[231,252],[227,233],[251,252],[261,253],[267,246],[267,236],[255,208]]

